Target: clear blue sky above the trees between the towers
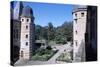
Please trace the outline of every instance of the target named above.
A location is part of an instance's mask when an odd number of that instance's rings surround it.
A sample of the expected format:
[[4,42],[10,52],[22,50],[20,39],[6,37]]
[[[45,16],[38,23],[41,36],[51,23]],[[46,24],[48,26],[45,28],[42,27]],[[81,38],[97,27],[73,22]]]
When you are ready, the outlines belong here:
[[[16,5],[16,3],[15,3]],[[35,17],[34,23],[47,26],[49,22],[53,26],[61,26],[65,21],[72,21],[73,5],[23,2],[24,6],[30,6]]]

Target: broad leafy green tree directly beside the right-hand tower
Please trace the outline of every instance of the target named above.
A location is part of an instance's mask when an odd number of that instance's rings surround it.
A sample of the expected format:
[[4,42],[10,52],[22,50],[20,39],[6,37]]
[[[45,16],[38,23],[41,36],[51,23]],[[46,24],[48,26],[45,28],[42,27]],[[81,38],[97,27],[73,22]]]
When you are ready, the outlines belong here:
[[72,30],[72,22],[65,21],[61,26],[56,28],[56,42],[65,44],[67,41],[72,41]]

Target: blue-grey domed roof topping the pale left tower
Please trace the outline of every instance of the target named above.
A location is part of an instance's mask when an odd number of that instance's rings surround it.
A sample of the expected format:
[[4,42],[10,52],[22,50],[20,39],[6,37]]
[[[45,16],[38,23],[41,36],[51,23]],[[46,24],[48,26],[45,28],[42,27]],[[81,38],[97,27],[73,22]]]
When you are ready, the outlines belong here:
[[29,6],[26,6],[23,8],[22,10],[22,14],[21,14],[21,17],[33,17],[33,11],[31,9],[31,7]]

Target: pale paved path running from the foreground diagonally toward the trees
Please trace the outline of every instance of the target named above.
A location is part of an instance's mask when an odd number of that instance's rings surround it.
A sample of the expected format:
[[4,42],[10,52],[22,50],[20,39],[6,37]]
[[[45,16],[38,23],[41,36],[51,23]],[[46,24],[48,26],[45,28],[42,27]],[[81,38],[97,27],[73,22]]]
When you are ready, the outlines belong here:
[[65,45],[60,45],[60,46],[52,46],[54,49],[56,48],[58,50],[58,52],[52,57],[50,58],[48,61],[22,61],[22,60],[18,60],[15,65],[16,66],[21,66],[21,65],[43,65],[43,64],[57,64],[56,62],[56,58],[58,58],[58,56],[61,55],[61,53],[63,53],[64,51],[71,51],[72,47],[70,46],[70,43],[65,44]]

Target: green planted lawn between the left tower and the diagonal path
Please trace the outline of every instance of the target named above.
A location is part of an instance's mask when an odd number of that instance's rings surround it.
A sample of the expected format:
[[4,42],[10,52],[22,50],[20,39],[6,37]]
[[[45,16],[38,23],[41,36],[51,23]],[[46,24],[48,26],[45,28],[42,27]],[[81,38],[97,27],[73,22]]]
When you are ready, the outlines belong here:
[[32,60],[47,61],[49,60],[57,51],[52,49],[41,49],[38,50],[32,57]]

